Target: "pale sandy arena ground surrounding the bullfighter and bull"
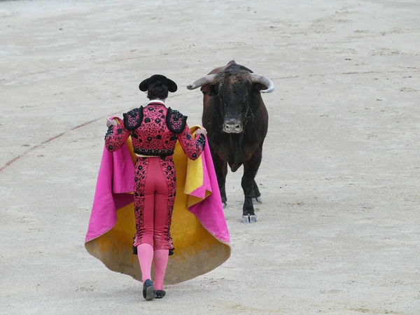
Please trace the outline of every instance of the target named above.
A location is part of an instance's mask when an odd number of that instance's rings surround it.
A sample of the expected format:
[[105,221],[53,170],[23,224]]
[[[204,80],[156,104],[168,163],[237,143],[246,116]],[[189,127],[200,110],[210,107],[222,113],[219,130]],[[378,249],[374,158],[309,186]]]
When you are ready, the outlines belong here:
[[[1,314],[420,314],[420,1],[0,1]],[[83,246],[106,116],[235,59],[274,81],[232,257],[153,302]],[[16,159],[15,159],[16,158]],[[13,160],[15,159],[15,160]]]

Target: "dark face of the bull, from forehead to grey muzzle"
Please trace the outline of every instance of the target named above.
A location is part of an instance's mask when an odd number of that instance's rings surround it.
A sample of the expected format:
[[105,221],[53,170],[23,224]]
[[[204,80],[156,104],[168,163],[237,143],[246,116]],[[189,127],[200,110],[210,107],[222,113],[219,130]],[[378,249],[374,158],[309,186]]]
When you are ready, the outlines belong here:
[[250,111],[252,84],[246,78],[225,78],[214,85],[218,108],[223,118],[222,130],[239,134],[244,130]]

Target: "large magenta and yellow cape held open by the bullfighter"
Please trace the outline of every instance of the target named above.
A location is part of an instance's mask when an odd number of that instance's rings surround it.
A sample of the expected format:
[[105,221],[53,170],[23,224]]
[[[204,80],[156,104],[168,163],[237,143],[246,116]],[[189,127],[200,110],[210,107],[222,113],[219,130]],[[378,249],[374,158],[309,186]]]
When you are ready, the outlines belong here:
[[[197,127],[191,130],[193,132]],[[141,281],[137,256],[132,254],[134,163],[130,146],[131,142],[127,141],[114,153],[104,148],[85,247],[109,269],[130,274]],[[175,251],[169,258],[165,276],[167,284],[186,281],[211,271],[225,262],[231,251],[207,139],[201,158],[195,161],[188,160],[177,144],[174,162],[177,197],[171,234]],[[189,163],[200,164],[190,167]],[[190,193],[186,192],[186,181],[195,188]]]

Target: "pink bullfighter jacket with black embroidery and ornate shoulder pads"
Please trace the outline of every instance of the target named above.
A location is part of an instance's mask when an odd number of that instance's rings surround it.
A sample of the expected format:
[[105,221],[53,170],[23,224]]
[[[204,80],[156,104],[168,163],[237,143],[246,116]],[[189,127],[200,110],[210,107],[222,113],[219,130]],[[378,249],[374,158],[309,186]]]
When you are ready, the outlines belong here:
[[108,151],[117,151],[132,136],[134,153],[150,156],[173,155],[176,141],[191,160],[197,159],[204,149],[203,134],[194,139],[187,125],[187,116],[160,103],[149,103],[124,113],[123,124],[111,125],[106,132]]

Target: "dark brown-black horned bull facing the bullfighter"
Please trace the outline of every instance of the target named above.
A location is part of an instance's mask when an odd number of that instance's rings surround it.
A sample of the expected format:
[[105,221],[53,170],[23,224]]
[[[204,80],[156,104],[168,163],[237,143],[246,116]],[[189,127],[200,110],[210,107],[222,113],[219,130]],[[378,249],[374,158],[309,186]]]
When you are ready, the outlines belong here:
[[260,202],[261,195],[255,175],[260,167],[268,128],[268,113],[260,92],[272,92],[274,83],[231,61],[187,88],[197,87],[201,87],[204,94],[202,124],[207,129],[222,202],[226,205],[228,164],[232,172],[244,165],[242,218],[244,223],[253,223],[256,221],[253,199]]

